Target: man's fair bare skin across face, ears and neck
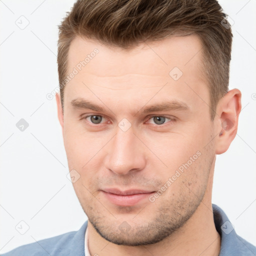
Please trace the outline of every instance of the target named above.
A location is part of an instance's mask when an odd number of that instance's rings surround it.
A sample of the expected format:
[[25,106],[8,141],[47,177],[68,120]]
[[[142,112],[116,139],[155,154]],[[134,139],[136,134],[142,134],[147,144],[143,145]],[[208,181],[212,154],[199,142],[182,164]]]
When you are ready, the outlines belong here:
[[[128,51],[80,37],[71,42],[67,73],[78,72],[64,87],[63,112],[59,94],[56,102],[68,167],[80,175],[73,186],[88,217],[91,255],[219,254],[211,206],[215,155],[236,134],[241,93],[228,91],[212,121],[201,61],[193,34]],[[102,109],[83,108],[82,100]],[[143,112],[171,101],[170,109]],[[154,193],[121,206],[108,200],[106,188]],[[157,196],[158,190],[164,191]]]

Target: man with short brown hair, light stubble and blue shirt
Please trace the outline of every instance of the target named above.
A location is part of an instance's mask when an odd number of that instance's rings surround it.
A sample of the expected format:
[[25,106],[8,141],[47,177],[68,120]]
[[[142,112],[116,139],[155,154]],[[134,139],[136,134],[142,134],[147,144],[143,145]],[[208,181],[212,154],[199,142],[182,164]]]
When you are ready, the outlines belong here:
[[241,110],[231,41],[215,0],[78,0],[56,102],[88,221],[4,255],[256,255],[211,204]]

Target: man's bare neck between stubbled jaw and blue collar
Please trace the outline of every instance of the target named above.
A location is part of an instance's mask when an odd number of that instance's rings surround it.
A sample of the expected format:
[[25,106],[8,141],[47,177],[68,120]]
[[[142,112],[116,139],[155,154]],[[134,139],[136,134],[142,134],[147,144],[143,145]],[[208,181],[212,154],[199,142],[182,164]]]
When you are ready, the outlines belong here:
[[90,255],[200,255],[218,256],[220,235],[215,229],[211,205],[201,203],[190,219],[171,236],[144,246],[124,246],[102,238],[88,221]]

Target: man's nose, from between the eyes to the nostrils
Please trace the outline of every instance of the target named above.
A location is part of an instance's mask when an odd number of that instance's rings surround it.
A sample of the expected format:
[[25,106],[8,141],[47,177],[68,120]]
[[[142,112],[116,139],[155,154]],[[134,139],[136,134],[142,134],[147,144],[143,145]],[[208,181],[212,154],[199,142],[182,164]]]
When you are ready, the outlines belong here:
[[144,148],[132,126],[123,131],[118,126],[115,136],[109,141],[105,167],[116,174],[125,175],[131,171],[138,171],[146,164]]

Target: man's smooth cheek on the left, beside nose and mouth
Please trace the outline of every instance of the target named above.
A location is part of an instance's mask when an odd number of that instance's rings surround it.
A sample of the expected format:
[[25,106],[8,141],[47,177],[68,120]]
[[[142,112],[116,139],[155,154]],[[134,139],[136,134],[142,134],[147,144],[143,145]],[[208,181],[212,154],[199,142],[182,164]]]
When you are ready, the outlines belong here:
[[85,132],[77,124],[69,122],[64,127],[63,140],[69,171],[75,169],[79,173],[79,179],[73,183],[75,192],[81,200],[91,200],[89,191],[97,189],[96,178],[102,169],[103,147],[108,140],[107,136]]

